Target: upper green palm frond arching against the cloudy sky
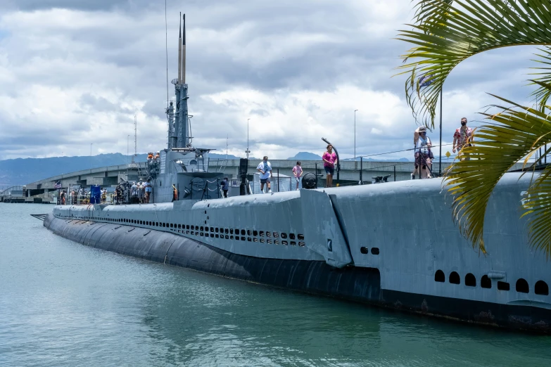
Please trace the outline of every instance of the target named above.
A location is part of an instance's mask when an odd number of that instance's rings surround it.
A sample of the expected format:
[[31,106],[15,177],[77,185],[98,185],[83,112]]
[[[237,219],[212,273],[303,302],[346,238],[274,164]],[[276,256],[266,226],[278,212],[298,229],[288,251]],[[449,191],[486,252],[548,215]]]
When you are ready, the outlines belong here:
[[[433,127],[445,79],[462,60],[483,51],[515,45],[551,44],[551,2],[537,0],[419,0],[416,24],[398,39],[414,47],[401,56],[415,119]],[[432,84],[421,88],[419,77]]]

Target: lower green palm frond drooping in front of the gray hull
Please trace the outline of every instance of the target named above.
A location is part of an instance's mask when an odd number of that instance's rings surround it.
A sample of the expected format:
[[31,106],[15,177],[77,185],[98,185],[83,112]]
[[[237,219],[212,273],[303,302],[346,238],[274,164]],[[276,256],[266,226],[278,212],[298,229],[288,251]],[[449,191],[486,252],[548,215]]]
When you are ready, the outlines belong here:
[[[454,198],[454,220],[459,224],[462,234],[471,240],[475,248],[481,250],[484,250],[484,215],[498,181],[516,162],[551,142],[550,116],[538,109],[495,97],[511,108],[496,105],[501,112],[495,115],[482,114],[490,123],[479,127],[474,133],[476,145],[467,146],[461,151],[460,158],[468,156],[470,160],[461,160],[452,165],[444,181]],[[551,200],[549,176],[549,172],[547,176],[539,176],[536,185],[528,190],[531,200],[525,203],[527,213],[531,214],[531,244],[544,250],[546,255],[551,254],[551,236],[544,236],[545,233],[551,233],[551,206],[546,206],[545,202]],[[545,195],[540,196],[542,192]]]

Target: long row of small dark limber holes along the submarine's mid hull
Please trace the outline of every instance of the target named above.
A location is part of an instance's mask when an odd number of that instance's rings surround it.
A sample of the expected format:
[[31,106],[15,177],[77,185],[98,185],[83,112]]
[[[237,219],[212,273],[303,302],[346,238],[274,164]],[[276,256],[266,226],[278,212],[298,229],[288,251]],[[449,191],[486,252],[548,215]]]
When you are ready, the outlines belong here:
[[[68,216],[61,216],[61,217],[68,217]],[[270,232],[270,231],[256,231],[251,229],[240,229],[240,228],[221,228],[221,227],[209,227],[209,226],[195,226],[193,224],[176,224],[176,223],[163,223],[163,222],[157,222],[157,221],[139,221],[137,219],[113,219],[113,218],[96,218],[96,217],[77,217],[77,219],[101,219],[104,221],[113,221],[116,223],[129,223],[129,224],[139,224],[142,226],[157,226],[157,227],[163,227],[163,228],[172,228],[172,231],[177,229],[184,229],[184,230],[191,230],[186,231],[185,234],[190,234],[191,236],[201,236],[201,237],[212,237],[212,238],[226,238],[227,240],[242,240],[242,241],[249,241],[249,242],[260,242],[260,243],[272,243],[271,237],[273,236],[274,240],[273,243],[275,245],[289,245],[291,243],[291,246],[296,246],[297,242],[293,241],[295,239],[298,239],[298,245],[300,247],[305,246],[305,243],[302,242],[304,240],[303,234],[295,235],[295,233],[289,233],[289,237],[287,236],[287,233],[281,232],[281,242],[279,240],[276,240],[275,238],[280,237],[279,232]],[[209,233],[210,231],[210,233]],[[178,231],[179,233],[184,233],[184,231]],[[222,234],[224,233],[224,234]],[[236,236],[234,236],[234,234]],[[241,234],[241,236],[239,236]],[[248,237],[246,237],[248,236]],[[253,237],[250,237],[253,236]],[[260,238],[257,238],[260,236]],[[267,237],[267,238],[262,238]],[[270,238],[268,238],[270,237]],[[291,241],[287,241],[286,239],[289,238]]]

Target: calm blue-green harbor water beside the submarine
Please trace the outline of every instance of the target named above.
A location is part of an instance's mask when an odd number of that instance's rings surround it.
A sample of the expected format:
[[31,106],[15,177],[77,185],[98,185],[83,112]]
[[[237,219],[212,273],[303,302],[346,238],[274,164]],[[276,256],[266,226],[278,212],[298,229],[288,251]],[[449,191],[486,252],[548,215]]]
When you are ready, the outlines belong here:
[[144,262],[0,203],[0,366],[551,366],[507,333]]

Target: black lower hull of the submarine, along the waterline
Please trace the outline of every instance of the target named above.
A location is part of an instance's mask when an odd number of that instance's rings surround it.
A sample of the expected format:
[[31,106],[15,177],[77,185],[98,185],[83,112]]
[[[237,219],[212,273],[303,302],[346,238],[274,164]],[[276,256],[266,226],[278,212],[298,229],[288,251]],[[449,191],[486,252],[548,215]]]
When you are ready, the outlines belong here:
[[46,218],[44,226],[83,245],[218,276],[457,321],[543,333],[551,331],[549,309],[381,290],[379,269],[355,266],[336,269],[325,262],[236,255],[172,233],[56,219],[52,214]]

